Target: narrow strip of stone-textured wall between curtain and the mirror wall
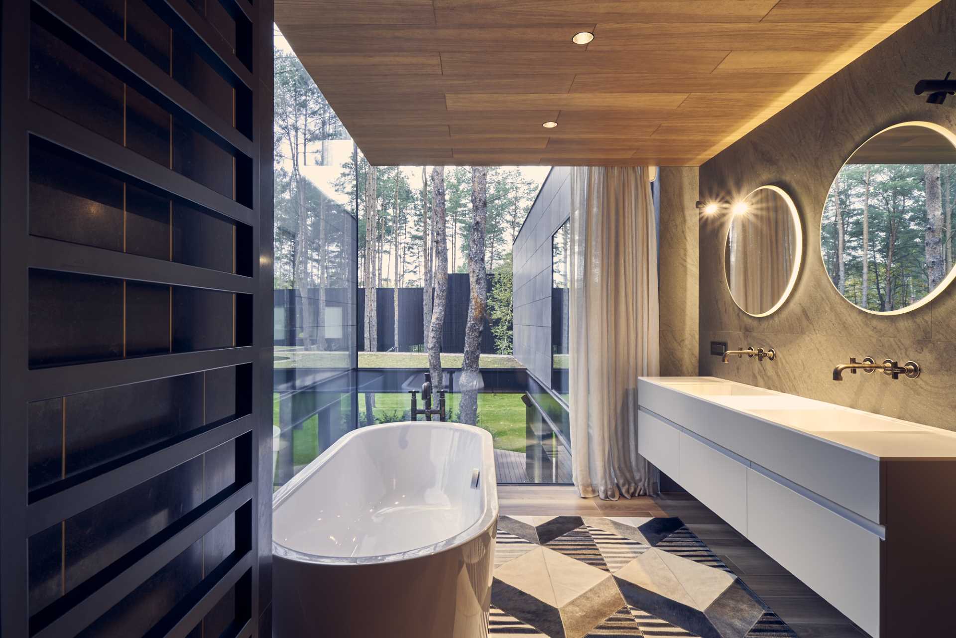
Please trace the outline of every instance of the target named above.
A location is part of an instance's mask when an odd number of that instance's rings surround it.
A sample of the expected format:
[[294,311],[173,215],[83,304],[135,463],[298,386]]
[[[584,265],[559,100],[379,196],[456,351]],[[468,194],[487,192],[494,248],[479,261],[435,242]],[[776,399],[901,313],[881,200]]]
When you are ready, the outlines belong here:
[[692,376],[698,368],[698,226],[696,166],[660,169],[661,374]]

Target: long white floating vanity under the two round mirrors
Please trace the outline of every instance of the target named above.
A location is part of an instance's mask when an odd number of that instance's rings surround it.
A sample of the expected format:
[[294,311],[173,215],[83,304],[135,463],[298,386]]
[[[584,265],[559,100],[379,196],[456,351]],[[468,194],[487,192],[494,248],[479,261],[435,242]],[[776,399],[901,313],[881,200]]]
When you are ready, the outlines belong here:
[[956,635],[956,433],[713,377],[638,397],[641,454],[859,627]]

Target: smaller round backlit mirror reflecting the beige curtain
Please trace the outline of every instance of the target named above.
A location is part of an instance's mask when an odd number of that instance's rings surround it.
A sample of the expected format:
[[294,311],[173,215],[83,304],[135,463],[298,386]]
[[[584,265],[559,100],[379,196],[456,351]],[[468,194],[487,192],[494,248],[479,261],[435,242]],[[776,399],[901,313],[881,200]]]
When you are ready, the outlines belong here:
[[803,233],[793,200],[778,187],[759,187],[730,207],[724,271],[730,297],[748,315],[766,317],[793,290]]

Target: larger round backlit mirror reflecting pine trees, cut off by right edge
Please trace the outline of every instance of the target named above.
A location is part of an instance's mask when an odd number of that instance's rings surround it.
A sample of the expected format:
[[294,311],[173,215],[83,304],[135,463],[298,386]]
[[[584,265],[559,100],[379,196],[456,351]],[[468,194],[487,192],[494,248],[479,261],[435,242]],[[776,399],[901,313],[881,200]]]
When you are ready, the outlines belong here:
[[820,220],[837,292],[861,310],[900,315],[952,281],[956,136],[908,121],[880,131],[840,168]]

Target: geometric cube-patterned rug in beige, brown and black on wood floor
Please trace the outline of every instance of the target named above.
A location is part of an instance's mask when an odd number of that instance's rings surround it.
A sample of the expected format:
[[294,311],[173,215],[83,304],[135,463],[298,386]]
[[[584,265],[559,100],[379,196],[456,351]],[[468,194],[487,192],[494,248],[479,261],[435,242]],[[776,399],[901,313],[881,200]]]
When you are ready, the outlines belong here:
[[495,638],[795,638],[680,518],[499,517]]

